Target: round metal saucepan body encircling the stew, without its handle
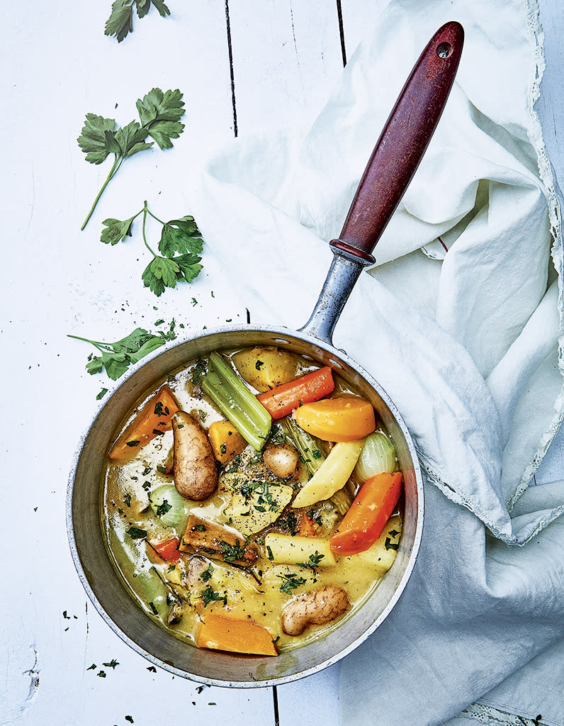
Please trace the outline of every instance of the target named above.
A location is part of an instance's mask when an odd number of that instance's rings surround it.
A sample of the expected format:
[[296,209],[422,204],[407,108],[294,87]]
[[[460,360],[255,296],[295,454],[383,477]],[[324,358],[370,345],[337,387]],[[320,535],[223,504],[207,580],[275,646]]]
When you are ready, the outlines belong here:
[[[390,433],[404,473],[405,510],[396,561],[362,607],[327,637],[277,658],[234,656],[182,643],[155,624],[126,592],[107,552],[100,523],[106,452],[115,431],[139,396],[168,372],[211,351],[278,346],[329,365],[369,400]],[[98,612],[123,640],[153,663],[209,685],[266,686],[296,680],[335,663],[372,633],[395,605],[414,566],[422,521],[422,481],[412,440],[396,407],[367,372],[343,352],[306,333],[285,328],[220,328],[195,335],[156,355],[130,375],[99,411],[75,457],[67,502],[70,549],[84,589]]]

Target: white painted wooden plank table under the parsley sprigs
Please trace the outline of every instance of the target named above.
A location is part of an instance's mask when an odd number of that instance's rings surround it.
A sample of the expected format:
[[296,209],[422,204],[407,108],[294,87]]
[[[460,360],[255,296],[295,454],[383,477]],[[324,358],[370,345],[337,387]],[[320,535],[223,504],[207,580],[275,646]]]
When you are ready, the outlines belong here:
[[[184,91],[177,145],[307,125],[386,2],[169,0],[173,17],[152,9],[120,45],[103,36],[110,0],[20,0],[5,9],[2,725],[339,722],[339,666],[277,689],[199,688],[152,672],[87,602],[68,550],[65,489],[107,379],[83,371],[90,348],[66,334],[115,340],[171,317],[197,330],[245,310],[213,265],[192,287],[152,298],[139,276],[123,274],[134,265],[141,274],[141,248],[98,242],[105,216],[136,211],[144,198],[166,219],[189,213],[174,151],[132,158],[78,231],[107,171],[83,161],[75,138],[87,111],[130,121],[135,99],[152,86]],[[564,21],[560,0],[543,0],[541,9],[548,65],[539,112],[562,184]],[[560,437],[538,481],[563,473]]]

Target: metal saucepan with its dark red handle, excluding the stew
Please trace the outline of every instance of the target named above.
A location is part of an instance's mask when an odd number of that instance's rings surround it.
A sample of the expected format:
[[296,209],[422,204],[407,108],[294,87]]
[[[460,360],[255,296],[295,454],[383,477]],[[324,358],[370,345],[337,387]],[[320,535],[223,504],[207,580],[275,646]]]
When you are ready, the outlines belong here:
[[[375,632],[396,605],[414,568],[423,526],[423,487],[417,453],[396,406],[359,364],[332,344],[332,332],[372,250],[428,145],[449,95],[462,51],[459,23],[446,23],[422,52],[369,160],[343,231],[330,242],[334,258],[319,300],[300,330],[218,327],[171,344],[137,364],[99,409],[78,446],[70,474],[67,522],[78,576],[107,624],[153,664],[208,685],[278,685],[335,663]],[[102,475],[115,432],[144,391],[168,372],[211,351],[277,346],[330,366],[368,399],[396,447],[404,474],[404,529],[396,560],[356,613],[329,635],[277,658],[237,656],[195,648],[158,627],[134,603],[110,561],[100,523]]]

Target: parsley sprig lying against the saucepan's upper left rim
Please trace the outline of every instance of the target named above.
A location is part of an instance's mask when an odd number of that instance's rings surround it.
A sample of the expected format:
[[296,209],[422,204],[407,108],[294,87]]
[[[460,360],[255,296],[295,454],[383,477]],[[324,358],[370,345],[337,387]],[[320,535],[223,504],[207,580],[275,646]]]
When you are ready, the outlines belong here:
[[163,346],[167,340],[174,340],[176,338],[175,326],[176,322],[173,318],[169,330],[167,332],[159,330],[157,335],[148,333],[142,327],[136,327],[133,333],[129,333],[126,338],[121,338],[121,340],[115,340],[114,343],[89,340],[89,338],[81,338],[80,335],[68,335],[68,338],[91,343],[99,350],[100,355],[90,354],[86,363],[86,370],[91,375],[105,370],[112,380],[117,380],[131,364]]

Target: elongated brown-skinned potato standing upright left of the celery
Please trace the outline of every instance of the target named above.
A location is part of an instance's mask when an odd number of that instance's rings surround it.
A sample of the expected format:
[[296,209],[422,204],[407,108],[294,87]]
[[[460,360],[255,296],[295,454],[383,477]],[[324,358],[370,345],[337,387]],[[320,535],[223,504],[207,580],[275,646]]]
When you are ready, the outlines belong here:
[[189,413],[172,417],[174,434],[174,486],[186,499],[208,499],[216,489],[218,473],[205,431]]

